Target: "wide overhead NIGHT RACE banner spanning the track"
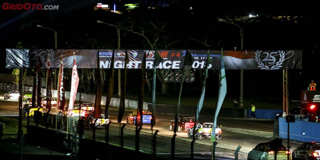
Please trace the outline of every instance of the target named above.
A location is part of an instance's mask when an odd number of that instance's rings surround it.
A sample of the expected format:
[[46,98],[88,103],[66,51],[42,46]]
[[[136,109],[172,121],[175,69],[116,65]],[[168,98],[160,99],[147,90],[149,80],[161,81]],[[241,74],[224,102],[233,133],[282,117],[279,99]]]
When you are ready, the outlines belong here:
[[[64,68],[72,68],[73,52],[77,68],[97,68],[97,56],[100,68],[110,68],[113,51],[115,52],[114,68],[124,68],[124,57],[127,53],[127,68],[141,68],[142,58],[146,56],[146,68],[154,67],[154,50],[74,50],[74,49],[6,49],[6,68],[35,68],[37,57],[42,61],[42,68],[49,54],[50,68],[59,68],[60,56]],[[186,52],[194,57],[192,68],[204,69],[207,50],[158,50],[163,61],[157,68],[182,69]],[[221,51],[210,51],[212,64],[209,69],[220,69]],[[301,69],[302,51],[223,51],[225,69]]]

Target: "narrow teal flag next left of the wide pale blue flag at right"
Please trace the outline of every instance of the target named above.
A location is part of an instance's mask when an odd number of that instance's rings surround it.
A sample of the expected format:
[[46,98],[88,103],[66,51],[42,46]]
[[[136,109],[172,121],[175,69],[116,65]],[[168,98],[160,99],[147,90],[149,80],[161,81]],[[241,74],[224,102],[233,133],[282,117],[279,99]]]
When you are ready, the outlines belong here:
[[199,113],[200,113],[201,108],[202,108],[202,106],[203,106],[204,93],[205,93],[205,81],[206,81],[207,76],[208,76],[208,68],[209,68],[209,65],[211,65],[211,63],[212,63],[212,60],[211,60],[211,58],[210,58],[209,51],[210,51],[210,50],[208,50],[207,61],[206,61],[206,64],[205,64],[204,77],[203,77],[203,81],[202,81],[202,89],[201,89],[201,93],[200,93],[200,99],[199,99],[198,105],[197,105],[197,116],[196,116],[195,122],[198,121]]

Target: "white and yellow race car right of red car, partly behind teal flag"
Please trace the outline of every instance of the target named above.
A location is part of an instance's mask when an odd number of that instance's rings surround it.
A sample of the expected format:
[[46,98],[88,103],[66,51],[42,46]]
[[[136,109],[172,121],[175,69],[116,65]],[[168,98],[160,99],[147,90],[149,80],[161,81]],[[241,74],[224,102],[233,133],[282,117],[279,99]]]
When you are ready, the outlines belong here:
[[[212,127],[213,127],[213,124],[214,123],[200,123],[200,122],[197,122],[196,124],[196,130],[195,130],[195,137],[198,139],[198,140],[201,140],[202,138],[211,138],[211,132],[212,132]],[[190,128],[189,131],[188,131],[188,137],[189,138],[192,138],[192,135],[193,135],[193,128]],[[216,140],[221,140],[221,135],[222,135],[222,131],[221,131],[221,128],[216,127],[215,129],[215,136],[216,136]]]

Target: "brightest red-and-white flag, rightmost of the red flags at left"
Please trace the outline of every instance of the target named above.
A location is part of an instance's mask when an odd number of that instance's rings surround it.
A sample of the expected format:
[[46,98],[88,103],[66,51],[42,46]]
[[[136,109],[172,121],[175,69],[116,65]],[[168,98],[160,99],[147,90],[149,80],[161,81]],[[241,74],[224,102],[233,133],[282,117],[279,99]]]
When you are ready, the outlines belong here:
[[73,58],[73,67],[72,67],[72,76],[71,76],[71,90],[70,90],[70,100],[69,100],[69,109],[72,109],[75,100],[76,100],[76,94],[78,90],[78,84],[79,84],[79,76],[77,71],[77,64],[76,64],[76,58]]

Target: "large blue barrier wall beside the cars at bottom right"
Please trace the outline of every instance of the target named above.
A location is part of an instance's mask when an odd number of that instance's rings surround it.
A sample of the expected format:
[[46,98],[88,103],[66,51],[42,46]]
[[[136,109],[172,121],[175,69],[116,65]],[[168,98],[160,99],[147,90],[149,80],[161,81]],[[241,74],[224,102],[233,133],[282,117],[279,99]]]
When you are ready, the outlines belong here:
[[[291,140],[299,140],[303,142],[316,141],[320,142],[320,123],[297,121],[289,124],[289,133]],[[285,118],[279,118],[279,137],[288,138],[288,123]]]

